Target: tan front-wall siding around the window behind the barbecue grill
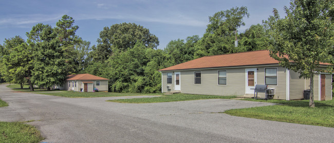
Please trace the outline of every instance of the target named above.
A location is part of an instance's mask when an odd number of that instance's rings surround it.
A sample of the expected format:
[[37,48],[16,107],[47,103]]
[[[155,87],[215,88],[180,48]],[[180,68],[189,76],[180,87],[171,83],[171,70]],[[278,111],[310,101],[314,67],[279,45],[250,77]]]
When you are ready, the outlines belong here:
[[[280,66],[257,67],[257,85],[265,84],[265,68],[277,68],[277,85],[268,85],[268,88],[275,89],[274,99],[286,99],[286,68]],[[258,93],[264,97],[264,93]]]

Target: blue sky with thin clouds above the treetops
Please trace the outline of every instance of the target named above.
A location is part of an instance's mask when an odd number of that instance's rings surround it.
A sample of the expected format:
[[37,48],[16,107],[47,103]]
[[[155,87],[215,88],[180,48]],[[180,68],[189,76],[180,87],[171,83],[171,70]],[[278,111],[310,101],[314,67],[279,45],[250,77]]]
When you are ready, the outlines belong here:
[[285,16],[284,6],[290,0],[216,0],[216,1],[151,1],[151,0],[0,0],[0,44],[5,38],[19,35],[27,39],[26,32],[39,23],[55,27],[65,14],[75,19],[79,26],[77,35],[92,45],[97,45],[100,31],[120,23],[135,23],[150,30],[159,38],[159,49],[171,40],[205,33],[209,16],[233,7],[246,6],[250,14],[245,17],[245,32],[251,25],[262,24],[272,14],[273,8]]

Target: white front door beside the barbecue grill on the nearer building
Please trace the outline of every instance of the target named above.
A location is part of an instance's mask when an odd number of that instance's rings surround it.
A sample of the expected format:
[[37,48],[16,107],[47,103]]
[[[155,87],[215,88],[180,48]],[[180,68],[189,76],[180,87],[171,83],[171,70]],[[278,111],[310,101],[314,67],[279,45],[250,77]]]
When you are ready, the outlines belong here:
[[246,94],[254,94],[256,69],[246,69]]

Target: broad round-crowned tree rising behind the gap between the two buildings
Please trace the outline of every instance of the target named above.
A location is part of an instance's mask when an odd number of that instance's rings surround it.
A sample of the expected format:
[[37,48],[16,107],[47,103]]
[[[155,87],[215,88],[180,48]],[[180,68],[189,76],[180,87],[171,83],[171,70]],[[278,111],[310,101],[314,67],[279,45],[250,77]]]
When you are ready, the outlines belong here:
[[104,27],[97,40],[99,57],[97,60],[106,60],[113,52],[123,52],[132,49],[141,42],[146,48],[157,48],[158,37],[150,33],[149,29],[134,23],[115,24]]

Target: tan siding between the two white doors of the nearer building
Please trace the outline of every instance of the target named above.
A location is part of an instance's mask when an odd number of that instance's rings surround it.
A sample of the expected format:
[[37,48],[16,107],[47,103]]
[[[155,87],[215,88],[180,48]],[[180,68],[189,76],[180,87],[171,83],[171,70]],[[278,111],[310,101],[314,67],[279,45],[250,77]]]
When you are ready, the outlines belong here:
[[[227,84],[218,85],[218,70],[227,71]],[[201,72],[201,84],[194,84],[194,72]],[[181,71],[181,92],[207,95],[244,95],[245,68]]]

